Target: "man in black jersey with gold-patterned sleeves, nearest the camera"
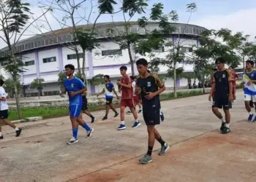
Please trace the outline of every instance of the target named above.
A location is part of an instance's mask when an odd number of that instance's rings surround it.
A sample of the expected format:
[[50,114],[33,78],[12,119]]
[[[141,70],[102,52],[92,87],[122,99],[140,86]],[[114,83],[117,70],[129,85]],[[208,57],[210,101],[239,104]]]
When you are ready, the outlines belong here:
[[139,59],[136,62],[140,77],[136,83],[136,93],[141,95],[143,103],[143,118],[148,129],[148,151],[146,155],[140,159],[140,163],[147,164],[152,162],[152,151],[154,141],[157,140],[161,144],[159,155],[166,154],[169,149],[168,143],[162,140],[161,135],[155,128],[155,125],[160,124],[160,99],[159,94],[165,91],[165,85],[157,75],[149,74],[147,71],[148,61]]

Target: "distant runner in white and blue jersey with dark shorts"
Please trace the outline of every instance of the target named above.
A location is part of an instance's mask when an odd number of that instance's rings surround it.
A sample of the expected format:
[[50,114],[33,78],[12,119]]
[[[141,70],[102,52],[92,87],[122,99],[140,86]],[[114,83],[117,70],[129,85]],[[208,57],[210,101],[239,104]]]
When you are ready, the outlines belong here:
[[99,94],[97,94],[97,97],[99,97],[99,95],[101,95],[102,93],[105,92],[106,114],[105,114],[105,116],[103,117],[102,120],[108,119],[109,108],[111,108],[112,111],[114,111],[114,113],[115,113],[114,117],[118,116],[118,112],[116,111],[116,108],[114,108],[113,103],[112,103],[113,97],[114,97],[113,92],[115,93],[116,98],[119,100],[119,96],[116,93],[115,87],[114,87],[113,83],[110,82],[110,76],[105,75],[104,76],[104,81],[105,81],[105,84],[103,84],[102,92],[99,92]]

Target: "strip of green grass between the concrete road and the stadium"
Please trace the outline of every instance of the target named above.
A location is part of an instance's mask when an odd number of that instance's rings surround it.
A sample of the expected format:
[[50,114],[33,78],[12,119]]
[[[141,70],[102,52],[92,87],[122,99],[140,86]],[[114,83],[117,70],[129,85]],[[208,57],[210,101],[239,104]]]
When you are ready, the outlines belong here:
[[[202,95],[200,90],[192,90],[191,92],[177,92],[178,98],[186,98],[195,95]],[[173,93],[162,94],[160,95],[161,100],[172,100],[174,99]],[[116,105],[118,108],[118,105]],[[90,105],[89,111],[99,111],[104,110],[105,106],[100,105]],[[42,116],[43,119],[60,117],[60,116],[68,116],[69,111],[66,107],[37,107],[37,108],[22,108],[22,116],[25,119],[26,117],[33,116]],[[9,112],[9,119],[11,121],[18,119],[18,112],[16,110],[12,110]]]

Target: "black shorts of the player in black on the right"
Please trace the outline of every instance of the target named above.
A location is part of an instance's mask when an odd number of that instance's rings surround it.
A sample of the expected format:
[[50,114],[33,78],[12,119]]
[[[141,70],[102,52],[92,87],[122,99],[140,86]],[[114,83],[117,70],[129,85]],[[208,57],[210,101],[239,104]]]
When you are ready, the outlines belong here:
[[214,95],[212,107],[228,110],[232,108],[232,103],[228,101],[228,95]]

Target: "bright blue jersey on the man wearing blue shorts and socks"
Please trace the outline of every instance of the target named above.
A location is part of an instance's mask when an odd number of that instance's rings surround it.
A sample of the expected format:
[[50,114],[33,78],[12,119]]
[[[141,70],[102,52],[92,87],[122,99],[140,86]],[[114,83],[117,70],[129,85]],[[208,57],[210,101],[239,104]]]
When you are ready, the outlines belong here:
[[[78,79],[77,77],[74,77],[73,79],[65,79],[64,80],[64,87],[67,90],[67,93],[69,95],[70,92],[78,92],[79,90],[83,89],[85,84]],[[72,97],[69,95],[69,105],[82,105],[83,99],[82,94],[75,95]]]

